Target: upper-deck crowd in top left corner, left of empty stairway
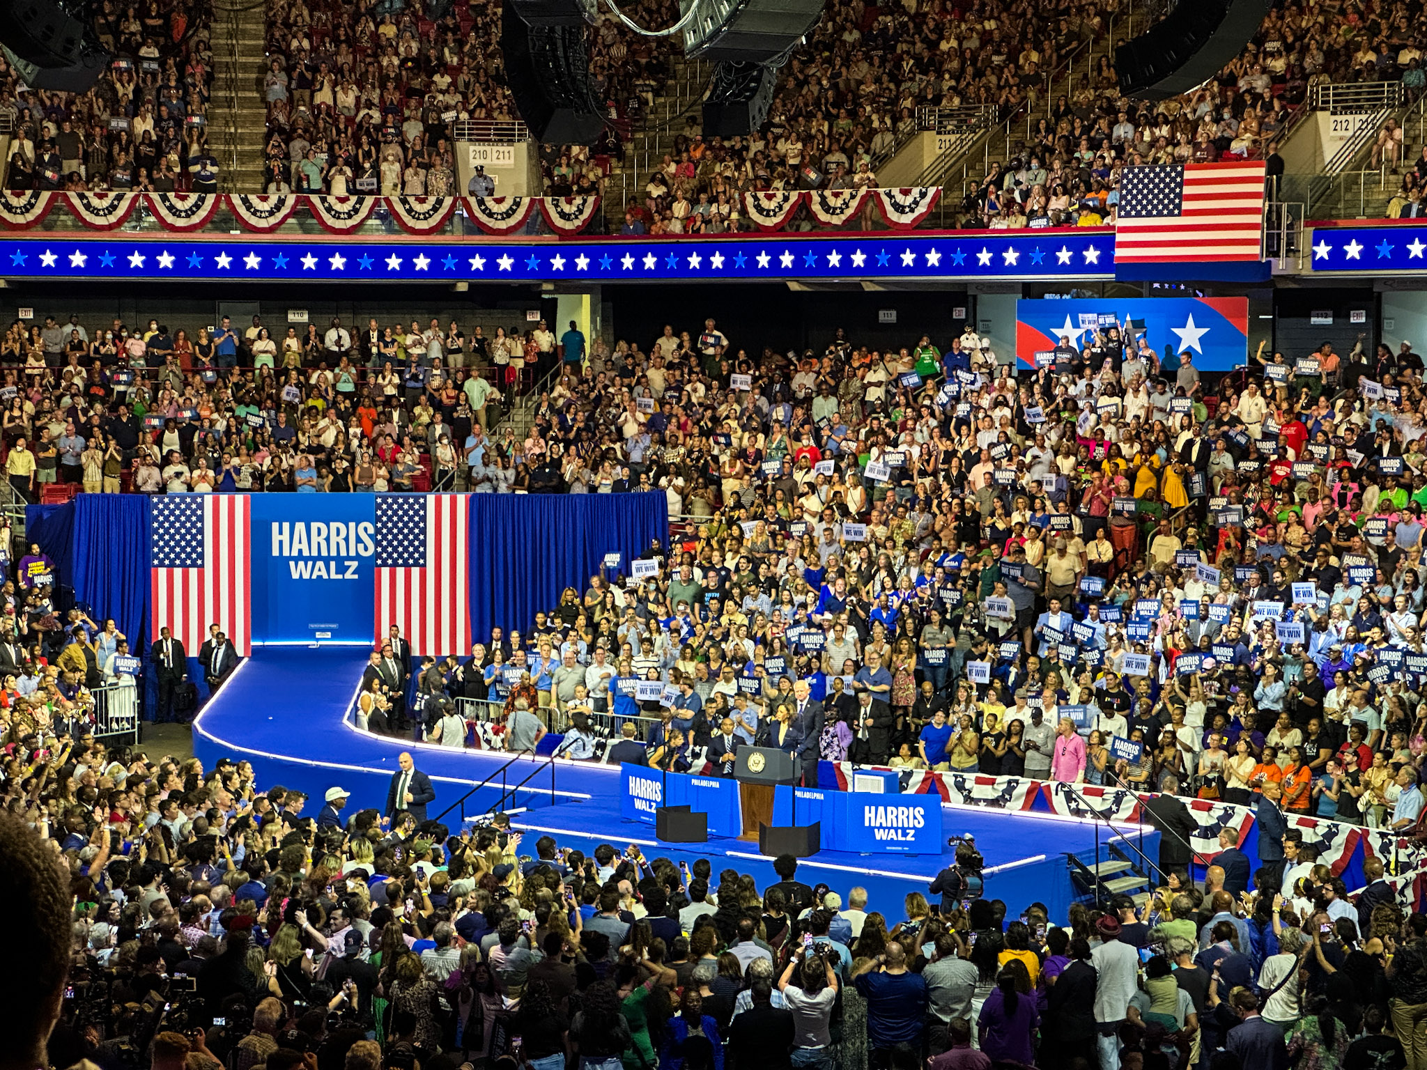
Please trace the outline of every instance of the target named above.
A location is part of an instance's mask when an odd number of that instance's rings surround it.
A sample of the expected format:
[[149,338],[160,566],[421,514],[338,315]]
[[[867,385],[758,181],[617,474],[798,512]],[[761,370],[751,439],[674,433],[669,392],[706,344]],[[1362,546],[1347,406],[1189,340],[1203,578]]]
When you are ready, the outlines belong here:
[[87,93],[30,88],[0,57],[0,113],[13,128],[4,188],[215,193],[208,4],[106,3],[91,13],[120,58]]

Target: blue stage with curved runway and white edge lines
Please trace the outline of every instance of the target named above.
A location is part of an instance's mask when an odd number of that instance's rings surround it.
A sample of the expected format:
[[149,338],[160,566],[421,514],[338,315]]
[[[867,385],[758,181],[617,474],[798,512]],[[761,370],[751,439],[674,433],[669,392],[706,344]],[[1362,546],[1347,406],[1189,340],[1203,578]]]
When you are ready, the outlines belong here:
[[[260,786],[283,785],[305,792],[310,799],[305,812],[311,815],[334,785],[351,792],[348,815],[365,807],[382,809],[402,750],[411,752],[417,768],[431,778],[437,790],[437,802],[428,807],[432,817],[472,785],[508,766],[504,780],[509,786],[534,773],[508,803],[508,809],[519,810],[512,815],[512,825],[532,833],[522,853],[534,855],[534,837],[548,833],[562,846],[585,852],[605,842],[619,849],[636,843],[651,857],[665,855],[676,862],[706,857],[715,877],[722,869],[738,869],[752,873],[759,886],[776,880],[772,860],[758,855],[753,843],[711,839],[704,845],[662,845],[652,823],[622,820],[618,766],[565,759],[549,763],[542,756],[512,762],[499,752],[455,750],[360,732],[348,713],[365,663],[365,652],[350,648],[255,651],[194,722],[194,753],[205,768],[220,758],[250,760]],[[464,813],[452,810],[442,820],[455,829],[499,798],[501,778],[497,778],[459,807]],[[896,798],[889,796],[888,802]],[[1040,902],[1052,919],[1065,919],[1076,895],[1067,853],[1083,862],[1110,857],[1106,840],[1113,833],[1087,819],[946,803],[942,820],[948,836],[975,836],[986,859],[986,897],[1003,900],[1012,916]],[[1134,847],[1150,857],[1157,855],[1159,833],[1130,823],[1117,827],[1132,837]],[[926,895],[928,883],[952,859],[953,852],[945,847],[940,855],[822,850],[801,863],[799,876],[809,885],[826,883],[843,899],[849,887],[866,887],[868,909],[880,910],[895,924],[903,917],[903,896]]]

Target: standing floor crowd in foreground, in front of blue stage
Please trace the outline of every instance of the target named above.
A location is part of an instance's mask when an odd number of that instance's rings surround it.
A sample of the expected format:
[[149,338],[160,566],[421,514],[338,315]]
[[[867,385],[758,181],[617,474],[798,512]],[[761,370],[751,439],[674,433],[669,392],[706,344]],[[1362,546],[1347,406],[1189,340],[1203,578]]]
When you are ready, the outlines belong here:
[[4,1070],[1427,1064],[1427,916],[1377,862],[1356,903],[1324,866],[1290,897],[1214,865],[1049,917],[983,895],[963,846],[868,910],[792,856],[759,889],[507,815],[450,829],[408,755],[352,813],[247,762],[11,739]]

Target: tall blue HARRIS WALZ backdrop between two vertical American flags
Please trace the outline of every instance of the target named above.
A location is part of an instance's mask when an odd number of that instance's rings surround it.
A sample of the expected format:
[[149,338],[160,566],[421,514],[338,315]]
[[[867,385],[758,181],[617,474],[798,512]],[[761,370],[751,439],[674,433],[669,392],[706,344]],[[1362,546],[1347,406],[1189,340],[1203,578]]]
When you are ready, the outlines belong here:
[[253,636],[370,643],[377,498],[255,494],[250,501]]

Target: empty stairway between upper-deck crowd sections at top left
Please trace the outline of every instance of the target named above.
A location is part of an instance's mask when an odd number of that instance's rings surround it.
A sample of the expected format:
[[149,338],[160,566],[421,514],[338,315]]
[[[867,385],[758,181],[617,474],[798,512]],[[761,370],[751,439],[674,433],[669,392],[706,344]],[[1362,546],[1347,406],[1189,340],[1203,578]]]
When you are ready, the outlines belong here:
[[218,157],[218,184],[227,193],[263,191],[265,20],[263,0],[223,0],[214,9],[208,144]]

